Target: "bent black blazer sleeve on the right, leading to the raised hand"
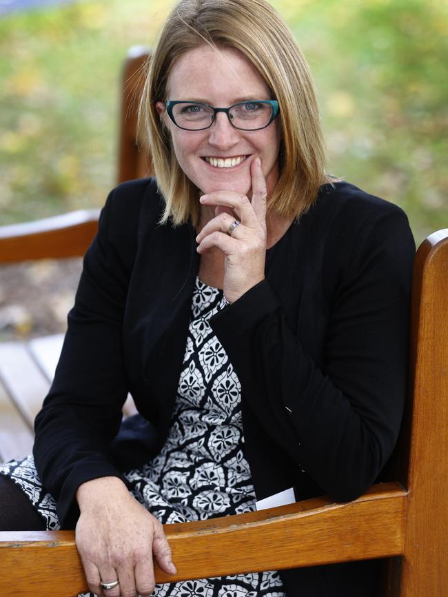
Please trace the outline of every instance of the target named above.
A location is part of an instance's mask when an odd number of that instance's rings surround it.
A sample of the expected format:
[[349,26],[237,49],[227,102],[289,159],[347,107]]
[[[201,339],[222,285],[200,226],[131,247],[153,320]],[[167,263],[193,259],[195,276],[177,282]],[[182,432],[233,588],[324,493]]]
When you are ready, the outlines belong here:
[[[403,211],[387,205],[358,225],[343,275],[326,296],[321,363],[301,330],[289,329],[266,279],[211,321],[252,416],[339,501],[374,483],[403,415],[415,245]],[[327,246],[326,261],[333,265],[337,253]],[[322,267],[325,277],[325,259]]]

